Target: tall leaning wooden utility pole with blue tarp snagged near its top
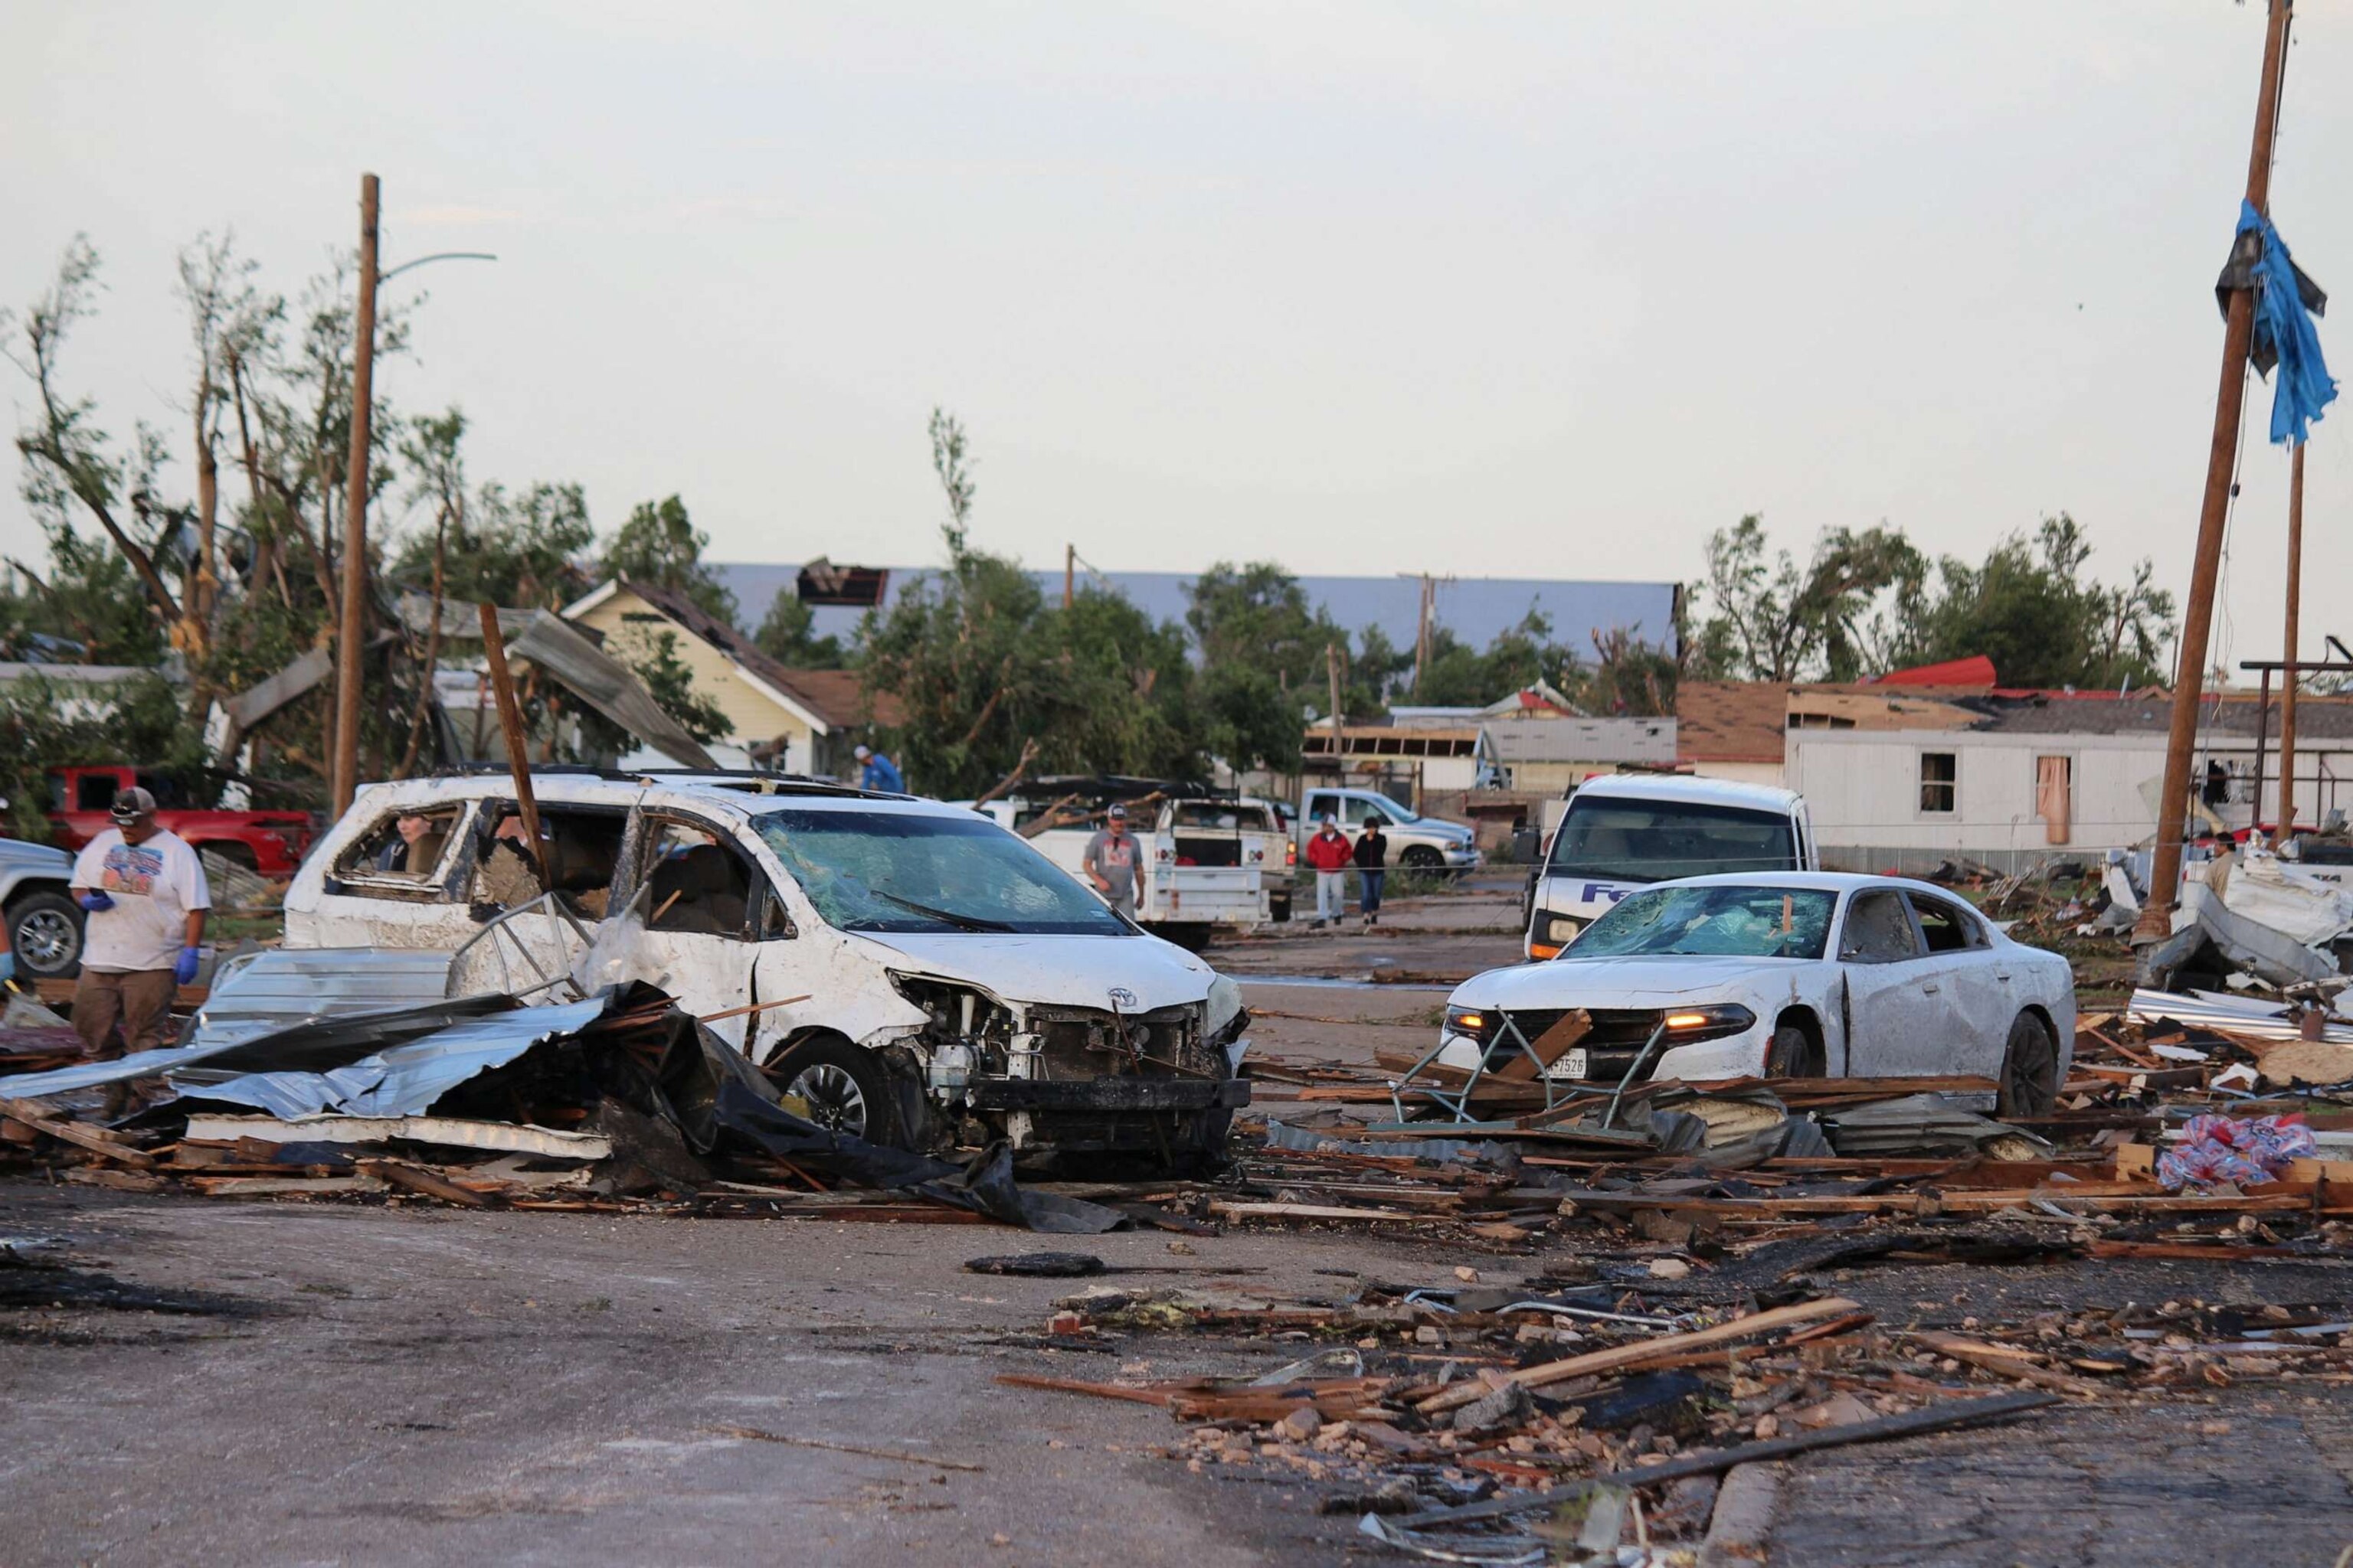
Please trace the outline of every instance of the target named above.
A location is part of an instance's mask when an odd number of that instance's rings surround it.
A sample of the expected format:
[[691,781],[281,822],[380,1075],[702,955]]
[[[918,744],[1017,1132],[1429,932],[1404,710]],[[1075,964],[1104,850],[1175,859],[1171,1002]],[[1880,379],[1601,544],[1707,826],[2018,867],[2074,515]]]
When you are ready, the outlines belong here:
[[[2287,14],[2292,0],[2271,0],[2264,31],[2264,80],[2254,94],[2254,143],[2247,150],[2247,202],[2271,205],[2271,136],[2280,122],[2280,71],[2287,61]],[[2233,261],[2242,261],[2254,235],[2240,235]],[[2252,284],[2252,280],[2249,280]],[[2221,574],[2221,529],[2231,515],[2231,468],[2238,456],[2238,416],[2247,390],[2247,350],[2254,341],[2254,289],[2231,289],[2221,331],[2221,388],[2214,395],[2214,444],[2207,449],[2205,508],[2198,512],[2198,557],[2191,597],[2181,611],[2181,646],[2174,656],[2174,715],[2165,736],[2165,792],[2158,797],[2158,846],[2148,872],[2148,903],[2134,926],[2137,940],[2162,940],[2172,929],[2174,893],[2181,884],[2181,830],[2191,799],[2191,752],[2198,745],[2198,701],[2205,696],[2207,635],[2214,625],[2214,581]]]

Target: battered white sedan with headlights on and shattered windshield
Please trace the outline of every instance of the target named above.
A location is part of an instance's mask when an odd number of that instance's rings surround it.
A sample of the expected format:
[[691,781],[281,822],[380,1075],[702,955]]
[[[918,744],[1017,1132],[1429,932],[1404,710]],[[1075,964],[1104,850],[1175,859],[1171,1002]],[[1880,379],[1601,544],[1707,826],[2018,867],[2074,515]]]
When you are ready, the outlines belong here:
[[[1572,1009],[1591,1027],[1546,1041]],[[2075,976],[1925,882],[1692,877],[1628,893],[1555,959],[1447,997],[1438,1063],[1553,1079],[1986,1077],[2047,1114],[2075,1048]]]

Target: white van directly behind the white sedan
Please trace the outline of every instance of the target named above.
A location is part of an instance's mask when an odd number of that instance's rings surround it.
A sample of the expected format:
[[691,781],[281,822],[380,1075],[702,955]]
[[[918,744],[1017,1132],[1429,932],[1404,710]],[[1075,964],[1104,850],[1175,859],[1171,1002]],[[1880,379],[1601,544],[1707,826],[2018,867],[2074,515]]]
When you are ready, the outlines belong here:
[[1666,773],[1588,778],[1529,875],[1525,952],[1553,957],[1649,882],[1814,870],[1821,858],[1802,795]]

